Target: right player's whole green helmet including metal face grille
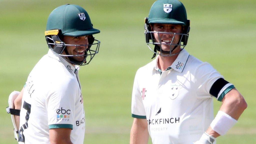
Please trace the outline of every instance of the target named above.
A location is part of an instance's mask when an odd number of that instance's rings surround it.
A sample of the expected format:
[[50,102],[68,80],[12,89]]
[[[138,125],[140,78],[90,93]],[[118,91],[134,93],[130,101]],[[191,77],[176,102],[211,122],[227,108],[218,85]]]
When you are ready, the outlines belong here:
[[[164,51],[162,49],[162,43],[155,42],[154,33],[157,33],[158,36],[161,33],[165,32],[152,32],[151,27],[154,24],[173,24],[173,25],[182,25],[183,32],[178,33],[167,33],[172,35],[179,35],[180,39],[177,44],[171,41],[170,51]],[[188,33],[190,30],[190,21],[187,19],[187,13],[184,5],[178,0],[158,0],[156,1],[149,12],[148,18],[145,18],[145,39],[148,48],[154,52],[152,58],[156,56],[156,54],[163,55],[163,56],[173,56],[178,53],[172,54],[173,50],[176,49],[178,46],[180,47],[180,51],[184,49],[188,42]],[[173,36],[173,37],[174,37]],[[159,40],[160,41],[160,40]],[[149,44],[153,44],[154,48],[151,48]],[[159,53],[160,52],[160,53]]]

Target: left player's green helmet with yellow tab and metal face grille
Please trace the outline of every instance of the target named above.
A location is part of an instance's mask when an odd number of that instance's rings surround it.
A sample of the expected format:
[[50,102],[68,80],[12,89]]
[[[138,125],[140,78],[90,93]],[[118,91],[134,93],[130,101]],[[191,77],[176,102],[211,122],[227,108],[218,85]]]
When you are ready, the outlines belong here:
[[[86,10],[78,5],[62,5],[55,8],[49,15],[46,25],[45,38],[47,45],[55,53],[75,65],[87,65],[99,52],[100,41],[94,39],[93,34],[100,30],[93,28],[90,17]],[[88,45],[65,44],[63,36],[88,36]],[[70,55],[66,46],[88,47],[83,55]],[[66,55],[63,55],[63,52]],[[74,57],[84,56],[83,61],[76,61]]]

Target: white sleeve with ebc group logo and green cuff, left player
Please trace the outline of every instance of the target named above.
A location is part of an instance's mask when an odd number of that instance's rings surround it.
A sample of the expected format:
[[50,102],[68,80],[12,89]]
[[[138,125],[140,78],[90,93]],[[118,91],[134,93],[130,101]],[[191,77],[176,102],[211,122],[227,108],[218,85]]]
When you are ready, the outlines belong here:
[[72,80],[62,81],[61,84],[55,84],[52,87],[46,101],[49,129],[73,129],[77,98],[76,89],[76,84]]

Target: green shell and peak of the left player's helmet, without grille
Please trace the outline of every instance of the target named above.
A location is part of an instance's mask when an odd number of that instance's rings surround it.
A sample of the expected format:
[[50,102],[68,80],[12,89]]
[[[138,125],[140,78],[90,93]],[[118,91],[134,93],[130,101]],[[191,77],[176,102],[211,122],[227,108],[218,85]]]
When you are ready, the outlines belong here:
[[48,17],[46,30],[60,29],[62,35],[86,36],[100,33],[94,29],[88,13],[78,5],[62,5]]

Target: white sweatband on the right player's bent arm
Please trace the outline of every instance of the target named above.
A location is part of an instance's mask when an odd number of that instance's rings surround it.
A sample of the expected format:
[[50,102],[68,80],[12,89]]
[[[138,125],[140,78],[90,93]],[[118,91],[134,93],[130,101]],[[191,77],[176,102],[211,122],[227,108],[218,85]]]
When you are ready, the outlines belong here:
[[227,131],[237,123],[237,120],[229,116],[223,111],[218,111],[215,119],[211,122],[211,128],[219,133],[225,135]]

